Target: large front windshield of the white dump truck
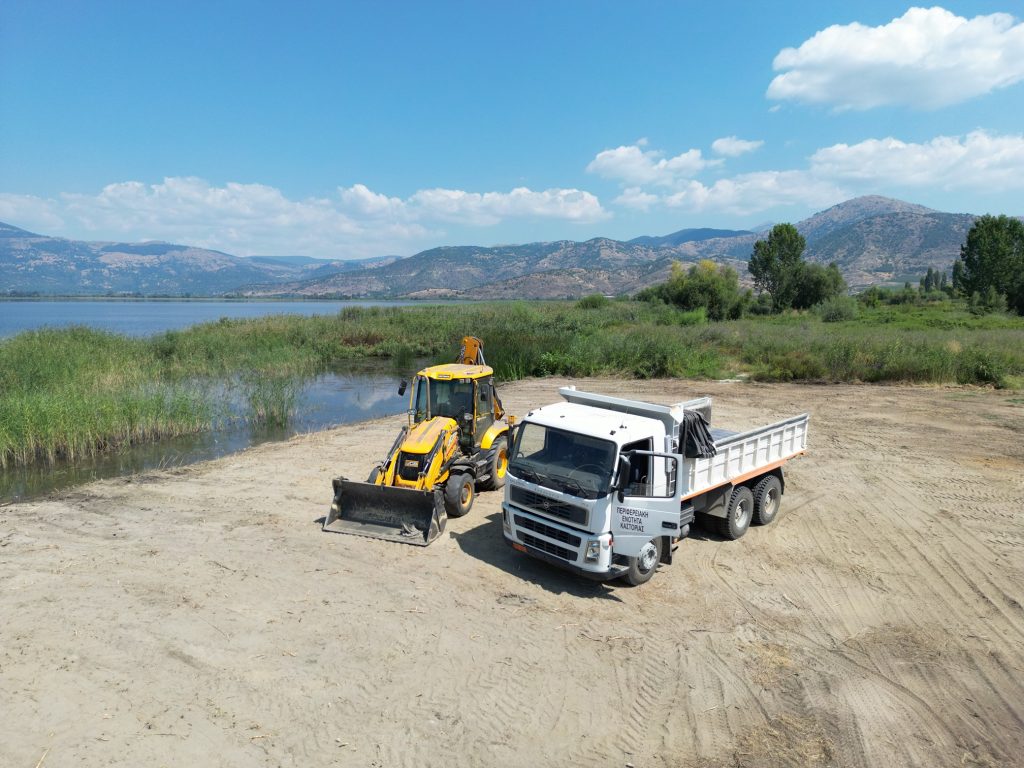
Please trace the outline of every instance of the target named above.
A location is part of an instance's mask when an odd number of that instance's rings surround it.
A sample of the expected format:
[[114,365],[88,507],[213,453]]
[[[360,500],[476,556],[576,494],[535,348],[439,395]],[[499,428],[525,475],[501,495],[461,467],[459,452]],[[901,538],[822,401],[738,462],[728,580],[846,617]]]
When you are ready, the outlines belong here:
[[611,482],[615,444],[589,435],[525,422],[516,431],[509,472],[555,490],[587,499]]

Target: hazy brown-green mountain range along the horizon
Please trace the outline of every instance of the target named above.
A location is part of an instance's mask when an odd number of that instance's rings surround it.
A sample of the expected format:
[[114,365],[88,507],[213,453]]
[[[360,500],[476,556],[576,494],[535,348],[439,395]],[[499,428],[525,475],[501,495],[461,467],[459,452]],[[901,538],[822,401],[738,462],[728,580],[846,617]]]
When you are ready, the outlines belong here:
[[[836,262],[852,288],[902,284],[948,270],[975,216],[878,196],[855,198],[797,224],[808,260]],[[171,243],[84,242],[0,223],[0,294],[317,298],[564,298],[632,293],[672,262],[746,262],[765,232],[682,229],[630,241],[444,246],[414,256],[326,261],[239,257]]]

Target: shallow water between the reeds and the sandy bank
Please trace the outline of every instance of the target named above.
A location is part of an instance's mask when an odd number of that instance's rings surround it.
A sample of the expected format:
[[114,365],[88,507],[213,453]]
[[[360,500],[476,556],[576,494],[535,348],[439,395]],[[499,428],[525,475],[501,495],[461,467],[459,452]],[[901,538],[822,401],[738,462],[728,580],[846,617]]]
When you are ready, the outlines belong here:
[[0,502],[25,501],[104,477],[194,464],[303,432],[401,414],[409,404],[408,394],[399,397],[397,393],[401,378],[383,366],[364,366],[304,381],[287,427],[233,421],[214,431],[135,445],[75,463],[8,468],[0,473]]

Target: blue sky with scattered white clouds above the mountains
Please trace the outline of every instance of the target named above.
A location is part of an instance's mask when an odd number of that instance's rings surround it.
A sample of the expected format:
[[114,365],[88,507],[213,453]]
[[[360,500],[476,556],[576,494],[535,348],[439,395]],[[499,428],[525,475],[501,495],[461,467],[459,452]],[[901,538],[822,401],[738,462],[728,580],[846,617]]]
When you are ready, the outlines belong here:
[[1024,214],[1020,2],[0,3],[0,221],[238,255]]

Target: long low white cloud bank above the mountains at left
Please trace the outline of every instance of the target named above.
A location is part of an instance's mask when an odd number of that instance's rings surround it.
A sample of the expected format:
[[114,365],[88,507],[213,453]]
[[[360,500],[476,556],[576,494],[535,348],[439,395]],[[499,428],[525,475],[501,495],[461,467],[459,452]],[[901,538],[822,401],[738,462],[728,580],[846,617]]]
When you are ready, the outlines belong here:
[[265,184],[222,186],[196,177],[123,181],[95,195],[56,199],[0,194],[0,220],[92,240],[166,240],[238,255],[301,253],[326,258],[415,250],[444,223],[490,226],[511,218],[598,221],[600,201],[580,189],[467,193],[425,189],[407,199],[365,184],[336,197],[291,200]]

